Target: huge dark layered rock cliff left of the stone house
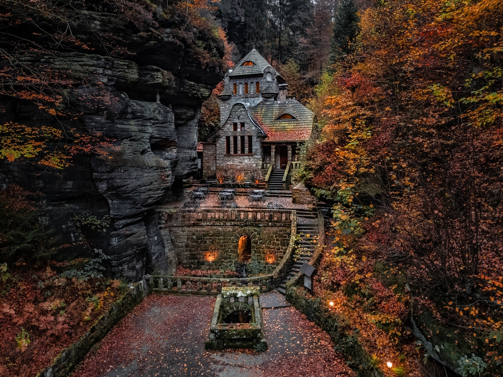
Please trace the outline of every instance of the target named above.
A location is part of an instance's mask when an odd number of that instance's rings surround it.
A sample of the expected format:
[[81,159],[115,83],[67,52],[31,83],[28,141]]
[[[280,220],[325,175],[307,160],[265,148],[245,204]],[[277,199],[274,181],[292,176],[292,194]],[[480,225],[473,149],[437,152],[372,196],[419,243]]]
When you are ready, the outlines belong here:
[[[92,41],[88,29],[107,28],[114,17],[86,12],[86,22],[75,21],[73,30]],[[62,257],[89,252],[89,244],[112,257],[112,275],[129,280],[139,280],[146,272],[172,272],[175,267],[165,257],[171,247],[163,243],[155,208],[169,201],[166,193],[181,187],[181,179],[197,169],[201,103],[222,77],[221,66],[198,65],[186,47],[190,43],[170,33],[173,30],[165,29],[155,38],[125,34],[127,59],[105,56],[99,48],[93,53],[53,51],[20,58],[26,65],[71,70],[83,77],[66,91],[66,101],[78,116],[66,121],[65,127],[99,133],[113,147],[77,155],[61,171],[33,161],[0,160],[0,189],[16,183],[37,193],[41,213],[57,229],[61,243],[82,243],[68,248]],[[208,38],[204,43],[212,46],[218,55],[215,61],[221,62],[223,45]],[[4,96],[0,108],[2,124],[61,127],[59,120],[30,101]],[[99,220],[107,215],[111,222],[105,230],[77,229],[78,216]]]

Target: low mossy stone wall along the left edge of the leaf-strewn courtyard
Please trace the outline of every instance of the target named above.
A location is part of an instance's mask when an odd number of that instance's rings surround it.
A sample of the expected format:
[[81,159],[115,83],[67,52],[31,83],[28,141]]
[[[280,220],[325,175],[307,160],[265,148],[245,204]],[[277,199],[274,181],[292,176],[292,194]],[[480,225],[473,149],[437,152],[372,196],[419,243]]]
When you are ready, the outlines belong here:
[[119,299],[107,313],[103,314],[87,333],[68,348],[63,349],[52,361],[51,365],[39,372],[37,377],[64,377],[70,374],[78,363],[86,357],[91,347],[102,340],[147,295],[148,288],[144,281],[132,286],[130,291]]

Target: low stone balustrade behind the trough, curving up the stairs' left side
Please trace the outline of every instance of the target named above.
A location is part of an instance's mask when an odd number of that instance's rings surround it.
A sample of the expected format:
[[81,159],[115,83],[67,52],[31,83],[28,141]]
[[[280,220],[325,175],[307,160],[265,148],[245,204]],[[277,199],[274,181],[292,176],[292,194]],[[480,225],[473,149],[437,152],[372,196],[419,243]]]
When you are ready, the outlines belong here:
[[[276,211],[271,211],[272,213]],[[281,212],[281,211],[280,211]],[[284,212],[284,211],[283,211]],[[293,250],[297,235],[297,212],[291,211],[291,236],[288,249],[273,273],[243,278],[197,277],[197,276],[160,276],[146,275],[148,288],[154,293],[177,293],[192,295],[220,294],[224,287],[259,287],[261,292],[268,292],[278,287],[294,263]]]

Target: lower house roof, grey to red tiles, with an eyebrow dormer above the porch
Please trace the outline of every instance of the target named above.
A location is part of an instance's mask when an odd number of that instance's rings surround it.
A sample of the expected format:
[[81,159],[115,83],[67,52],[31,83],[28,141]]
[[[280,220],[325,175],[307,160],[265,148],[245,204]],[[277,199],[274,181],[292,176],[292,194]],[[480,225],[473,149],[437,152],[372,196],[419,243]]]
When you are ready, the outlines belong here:
[[[267,134],[264,141],[305,141],[311,136],[314,113],[296,100],[262,101],[249,109]],[[295,119],[278,119],[290,114]]]

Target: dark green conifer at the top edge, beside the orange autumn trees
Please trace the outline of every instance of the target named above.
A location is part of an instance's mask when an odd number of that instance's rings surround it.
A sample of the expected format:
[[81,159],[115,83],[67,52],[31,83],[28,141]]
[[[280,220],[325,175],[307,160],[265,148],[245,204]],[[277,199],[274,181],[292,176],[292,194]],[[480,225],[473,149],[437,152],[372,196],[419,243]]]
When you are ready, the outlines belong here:
[[330,64],[335,64],[353,49],[358,33],[358,8],[354,0],[340,0],[333,22],[330,46]]

